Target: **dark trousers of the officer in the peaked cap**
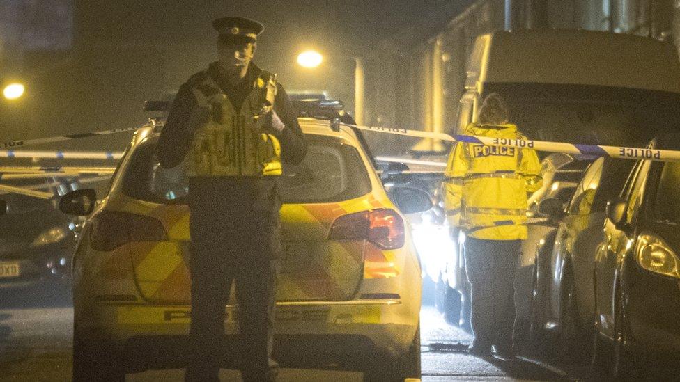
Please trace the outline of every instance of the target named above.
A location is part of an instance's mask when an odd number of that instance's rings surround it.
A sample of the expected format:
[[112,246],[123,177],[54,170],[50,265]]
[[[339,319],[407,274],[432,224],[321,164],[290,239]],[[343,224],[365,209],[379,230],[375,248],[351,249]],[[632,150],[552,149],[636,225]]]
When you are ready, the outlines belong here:
[[252,191],[224,182],[190,180],[193,349],[187,381],[219,381],[219,366],[225,361],[225,305],[232,282],[239,341],[229,344],[227,353],[238,355],[235,361],[244,381],[273,381],[276,374],[277,364],[270,356],[276,258],[281,248],[279,212],[278,208],[255,209]]

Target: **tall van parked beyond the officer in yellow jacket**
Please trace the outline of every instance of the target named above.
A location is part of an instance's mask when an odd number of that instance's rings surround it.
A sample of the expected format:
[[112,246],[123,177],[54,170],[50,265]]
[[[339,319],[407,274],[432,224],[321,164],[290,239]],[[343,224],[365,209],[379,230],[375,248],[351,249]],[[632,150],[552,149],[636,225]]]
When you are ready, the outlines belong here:
[[[502,95],[511,122],[530,139],[644,146],[658,132],[680,129],[677,48],[652,38],[549,29],[481,35],[468,61],[456,134],[476,120],[490,93]],[[541,159],[548,154],[539,152]],[[520,323],[530,313],[536,245],[550,230],[530,226],[523,244],[515,282]],[[469,326],[465,262],[458,253],[447,256],[440,290],[448,295],[440,301],[447,321]]]

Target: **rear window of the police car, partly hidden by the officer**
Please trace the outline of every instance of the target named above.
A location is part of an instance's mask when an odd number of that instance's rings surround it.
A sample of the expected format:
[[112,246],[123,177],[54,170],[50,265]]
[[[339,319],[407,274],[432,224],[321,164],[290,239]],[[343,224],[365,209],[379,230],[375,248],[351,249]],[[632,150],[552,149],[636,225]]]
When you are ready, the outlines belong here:
[[[187,177],[160,166],[154,154],[156,141],[141,143],[132,153],[123,192],[149,202],[186,204]],[[340,202],[371,192],[371,180],[356,148],[326,136],[307,136],[307,143],[307,156],[300,164],[284,164],[282,202]]]

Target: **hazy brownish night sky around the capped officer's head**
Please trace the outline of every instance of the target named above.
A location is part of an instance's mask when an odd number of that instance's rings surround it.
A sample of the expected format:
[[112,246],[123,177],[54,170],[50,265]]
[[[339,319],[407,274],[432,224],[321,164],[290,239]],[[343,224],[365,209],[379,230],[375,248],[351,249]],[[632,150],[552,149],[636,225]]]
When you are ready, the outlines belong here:
[[[72,49],[26,54],[27,93],[20,103],[0,106],[3,136],[33,138],[141,125],[144,100],[173,93],[214,60],[216,33],[210,22],[226,15],[265,25],[254,61],[277,72],[287,90],[327,90],[350,104],[352,56],[366,56],[385,38],[409,28],[427,35],[466,3],[75,1]],[[419,38],[412,34],[405,38]],[[321,70],[295,64],[297,54],[312,47],[327,55]]]

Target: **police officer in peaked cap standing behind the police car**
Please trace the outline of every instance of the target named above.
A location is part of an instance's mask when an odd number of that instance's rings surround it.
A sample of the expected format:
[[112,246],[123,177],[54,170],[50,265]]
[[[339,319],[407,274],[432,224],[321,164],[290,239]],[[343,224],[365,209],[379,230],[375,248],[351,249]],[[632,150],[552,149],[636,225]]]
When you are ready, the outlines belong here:
[[157,146],[163,168],[189,177],[192,357],[187,381],[218,381],[231,284],[238,301],[241,376],[272,381],[270,358],[281,161],[307,145],[275,75],[252,63],[263,26],[242,17],[212,22],[218,60],[184,83]]

